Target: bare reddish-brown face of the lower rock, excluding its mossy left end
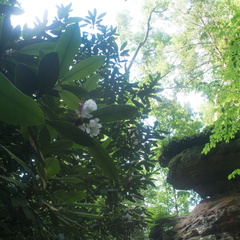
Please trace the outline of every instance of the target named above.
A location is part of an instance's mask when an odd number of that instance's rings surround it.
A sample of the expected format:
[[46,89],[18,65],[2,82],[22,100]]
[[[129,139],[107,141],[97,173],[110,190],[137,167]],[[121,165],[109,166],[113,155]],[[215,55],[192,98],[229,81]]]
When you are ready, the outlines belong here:
[[240,239],[240,194],[205,199],[176,228],[177,239]]

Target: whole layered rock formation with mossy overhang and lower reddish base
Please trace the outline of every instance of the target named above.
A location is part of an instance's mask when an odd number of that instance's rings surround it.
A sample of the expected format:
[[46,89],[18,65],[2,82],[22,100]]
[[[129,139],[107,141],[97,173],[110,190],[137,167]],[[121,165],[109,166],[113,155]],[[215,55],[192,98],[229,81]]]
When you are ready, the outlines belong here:
[[173,141],[160,156],[160,165],[169,168],[167,181],[176,189],[195,190],[203,200],[188,216],[159,219],[151,239],[240,239],[240,178],[228,180],[240,168],[240,138],[204,155],[208,138],[205,132]]

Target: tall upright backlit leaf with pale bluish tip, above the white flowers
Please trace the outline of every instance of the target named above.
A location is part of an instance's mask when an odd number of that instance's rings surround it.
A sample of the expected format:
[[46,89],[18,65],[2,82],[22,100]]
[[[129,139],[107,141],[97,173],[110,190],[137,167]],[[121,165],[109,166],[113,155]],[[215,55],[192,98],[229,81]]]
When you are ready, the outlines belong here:
[[68,72],[69,67],[73,64],[74,56],[77,53],[80,45],[80,30],[78,24],[70,25],[66,31],[61,35],[56,51],[59,54],[59,76],[62,77]]

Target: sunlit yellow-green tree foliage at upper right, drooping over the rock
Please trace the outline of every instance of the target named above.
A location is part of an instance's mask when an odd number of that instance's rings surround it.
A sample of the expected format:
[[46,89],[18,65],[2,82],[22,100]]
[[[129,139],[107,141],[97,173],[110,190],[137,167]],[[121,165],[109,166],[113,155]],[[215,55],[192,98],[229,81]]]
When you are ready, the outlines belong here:
[[[239,131],[239,2],[169,2],[168,10],[159,18],[179,30],[155,30],[163,32],[159,36],[168,36],[168,41],[163,39],[158,44],[153,35],[149,45],[155,44],[156,50],[147,51],[150,55],[145,55],[146,61],[161,51],[168,66],[163,71],[169,71],[166,83],[176,93],[201,92],[213,104],[214,128],[203,151],[207,153],[217,142],[229,142]],[[152,70],[152,65],[148,68]]]

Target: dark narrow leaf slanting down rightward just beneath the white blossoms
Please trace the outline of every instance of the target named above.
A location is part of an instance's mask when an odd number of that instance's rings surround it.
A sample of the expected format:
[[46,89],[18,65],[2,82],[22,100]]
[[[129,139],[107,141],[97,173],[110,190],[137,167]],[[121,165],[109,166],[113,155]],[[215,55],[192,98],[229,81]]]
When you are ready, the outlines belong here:
[[59,133],[73,142],[82,146],[93,146],[94,140],[86,132],[80,128],[64,121],[50,121],[49,124],[53,126]]

